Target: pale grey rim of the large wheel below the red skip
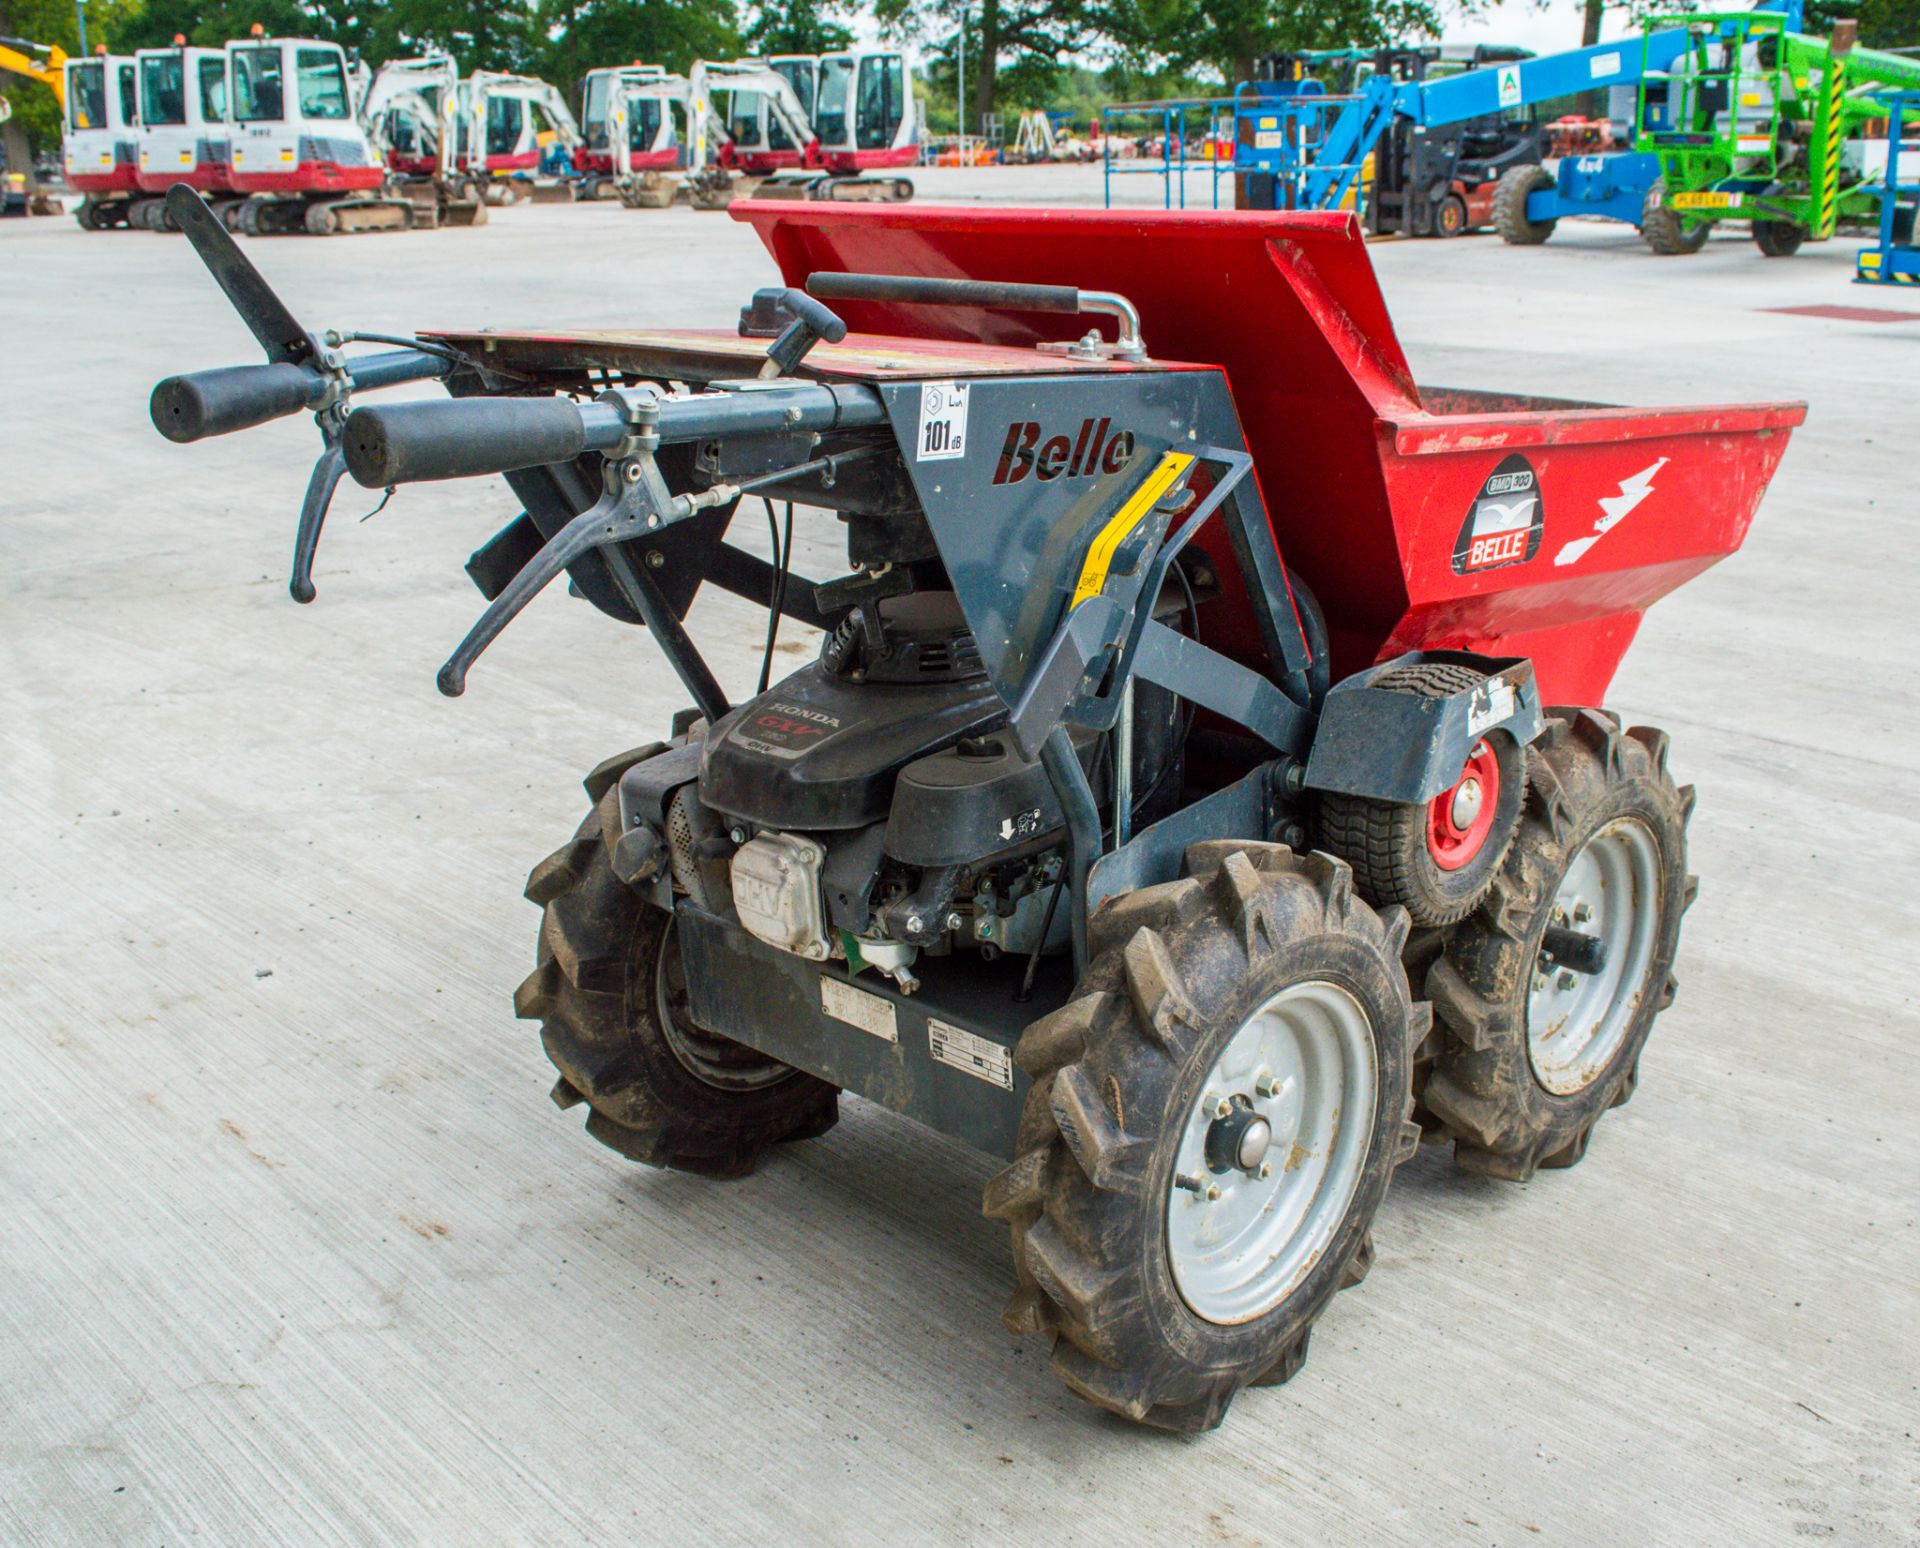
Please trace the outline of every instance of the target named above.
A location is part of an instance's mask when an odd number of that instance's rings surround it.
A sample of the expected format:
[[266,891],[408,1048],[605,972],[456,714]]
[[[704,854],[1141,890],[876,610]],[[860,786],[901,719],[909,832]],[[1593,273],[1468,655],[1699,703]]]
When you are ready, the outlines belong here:
[[1572,1097],[1620,1051],[1642,999],[1659,926],[1661,859],[1653,830],[1619,816],[1574,853],[1553,893],[1551,922],[1605,947],[1597,972],[1542,956],[1526,995],[1526,1056],[1534,1079]]

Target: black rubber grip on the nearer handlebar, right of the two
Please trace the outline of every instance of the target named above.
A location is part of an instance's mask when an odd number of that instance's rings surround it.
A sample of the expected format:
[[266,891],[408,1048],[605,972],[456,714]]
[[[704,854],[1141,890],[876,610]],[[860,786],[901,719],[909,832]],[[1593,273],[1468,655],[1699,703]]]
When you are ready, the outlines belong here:
[[340,440],[348,472],[369,490],[570,463],[588,449],[580,405],[566,398],[376,403],[349,413]]

